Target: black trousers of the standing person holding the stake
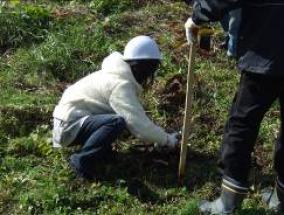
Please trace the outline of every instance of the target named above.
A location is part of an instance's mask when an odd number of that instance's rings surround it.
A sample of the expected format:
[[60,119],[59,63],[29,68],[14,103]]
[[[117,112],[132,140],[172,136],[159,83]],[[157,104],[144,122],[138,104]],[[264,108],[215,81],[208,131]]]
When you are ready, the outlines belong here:
[[242,73],[225,126],[220,168],[224,177],[248,185],[251,153],[264,114],[279,99],[281,131],[275,151],[275,169],[284,181],[284,78]]

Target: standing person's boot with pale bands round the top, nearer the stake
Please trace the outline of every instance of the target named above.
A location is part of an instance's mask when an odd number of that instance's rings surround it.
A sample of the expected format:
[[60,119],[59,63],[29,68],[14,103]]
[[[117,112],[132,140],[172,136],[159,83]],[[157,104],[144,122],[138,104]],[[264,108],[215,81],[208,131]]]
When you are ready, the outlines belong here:
[[213,202],[202,201],[199,209],[203,214],[233,214],[241,206],[248,193],[248,188],[240,187],[223,179],[221,196]]

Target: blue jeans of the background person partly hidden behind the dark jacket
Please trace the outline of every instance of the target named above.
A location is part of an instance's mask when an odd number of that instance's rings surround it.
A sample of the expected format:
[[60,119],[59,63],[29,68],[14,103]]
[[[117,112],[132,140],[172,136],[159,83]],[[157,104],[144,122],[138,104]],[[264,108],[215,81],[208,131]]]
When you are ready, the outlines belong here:
[[221,21],[221,25],[224,31],[227,33],[227,36],[229,37],[227,52],[228,56],[237,56],[237,43],[241,24],[241,17],[242,10],[236,9],[230,11],[227,15],[225,15],[225,17]]

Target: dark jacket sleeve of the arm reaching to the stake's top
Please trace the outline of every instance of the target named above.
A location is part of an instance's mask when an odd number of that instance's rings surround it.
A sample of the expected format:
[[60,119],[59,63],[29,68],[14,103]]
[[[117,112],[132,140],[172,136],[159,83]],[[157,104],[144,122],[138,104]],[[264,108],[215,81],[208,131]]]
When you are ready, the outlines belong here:
[[242,0],[195,0],[192,20],[201,25],[220,21],[226,12],[241,7]]

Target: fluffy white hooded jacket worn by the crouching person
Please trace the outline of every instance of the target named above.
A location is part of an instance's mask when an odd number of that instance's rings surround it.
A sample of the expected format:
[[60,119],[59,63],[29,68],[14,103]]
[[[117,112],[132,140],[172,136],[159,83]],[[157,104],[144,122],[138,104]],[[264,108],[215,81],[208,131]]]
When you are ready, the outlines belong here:
[[[76,122],[90,115],[116,113],[124,118],[134,136],[164,145],[167,133],[145,115],[138,99],[141,90],[122,55],[114,52],[104,59],[100,71],[65,90],[53,117],[64,122]],[[79,130],[80,126],[77,126],[73,134]]]

